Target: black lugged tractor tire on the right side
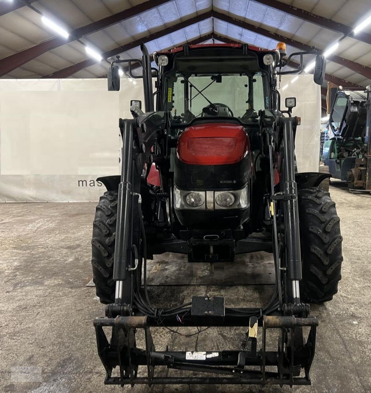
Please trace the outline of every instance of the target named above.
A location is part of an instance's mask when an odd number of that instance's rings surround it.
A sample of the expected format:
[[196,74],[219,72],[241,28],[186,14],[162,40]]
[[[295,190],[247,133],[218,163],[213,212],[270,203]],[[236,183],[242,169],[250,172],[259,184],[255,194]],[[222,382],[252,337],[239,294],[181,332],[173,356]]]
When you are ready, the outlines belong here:
[[338,292],[342,278],[342,236],[335,202],[318,187],[298,191],[302,275],[301,297],[324,302]]

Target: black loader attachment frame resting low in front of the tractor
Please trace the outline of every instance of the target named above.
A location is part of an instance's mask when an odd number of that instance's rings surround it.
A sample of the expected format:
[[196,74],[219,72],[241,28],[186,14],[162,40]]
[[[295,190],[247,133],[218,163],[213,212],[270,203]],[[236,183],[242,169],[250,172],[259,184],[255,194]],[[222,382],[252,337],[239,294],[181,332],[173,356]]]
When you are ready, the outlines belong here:
[[[250,320],[251,322],[251,320]],[[254,321],[257,324],[257,319]],[[228,323],[228,320],[225,320]],[[236,326],[235,322],[230,322]],[[310,385],[309,370],[312,364],[316,343],[316,318],[295,318],[294,316],[266,316],[262,318],[262,348],[256,350],[251,345],[250,351],[156,351],[152,340],[150,325],[154,325],[147,316],[117,316],[116,318],[96,318],[97,347],[99,357],[105,365],[107,385],[146,384],[257,384],[261,386]],[[112,327],[112,339],[103,331],[104,326]],[[300,347],[286,345],[287,332],[290,343],[302,339],[302,327],[310,327],[305,344]],[[138,349],[128,338],[137,329],[143,329],[145,348]],[[278,351],[266,351],[268,329],[280,329],[281,339]],[[250,331],[250,329],[249,329]],[[250,334],[250,332],[249,332]],[[256,340],[250,334],[248,340]],[[147,366],[147,376],[138,376],[138,366]],[[195,371],[198,373],[217,374],[217,377],[158,377],[154,369],[165,366],[169,369]],[[249,370],[259,366],[260,370]],[[275,366],[277,371],[267,371],[266,367]],[[118,367],[118,376],[112,376],[112,370]],[[298,370],[304,368],[304,376]]]

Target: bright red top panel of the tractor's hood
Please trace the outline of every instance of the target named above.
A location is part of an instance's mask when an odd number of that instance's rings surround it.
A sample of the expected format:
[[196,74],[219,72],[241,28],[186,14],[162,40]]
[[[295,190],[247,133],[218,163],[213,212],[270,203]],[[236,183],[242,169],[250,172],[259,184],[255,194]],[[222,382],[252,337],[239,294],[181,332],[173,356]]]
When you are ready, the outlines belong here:
[[249,150],[249,137],[241,125],[207,123],[187,127],[176,153],[187,164],[222,165],[239,162]]

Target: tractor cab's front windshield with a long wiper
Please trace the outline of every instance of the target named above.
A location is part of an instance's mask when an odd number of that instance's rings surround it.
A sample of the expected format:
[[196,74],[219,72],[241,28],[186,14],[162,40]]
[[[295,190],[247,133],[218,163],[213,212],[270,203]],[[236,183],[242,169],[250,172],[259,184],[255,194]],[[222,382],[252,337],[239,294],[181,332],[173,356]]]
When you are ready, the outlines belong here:
[[173,123],[204,117],[232,117],[244,123],[269,108],[268,78],[256,57],[186,59],[165,74],[163,100]]

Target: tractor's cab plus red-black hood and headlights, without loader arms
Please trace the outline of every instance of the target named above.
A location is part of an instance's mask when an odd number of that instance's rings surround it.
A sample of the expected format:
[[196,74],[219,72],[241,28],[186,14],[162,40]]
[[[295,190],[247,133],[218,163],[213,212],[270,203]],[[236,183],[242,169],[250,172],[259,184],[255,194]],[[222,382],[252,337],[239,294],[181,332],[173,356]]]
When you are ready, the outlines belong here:
[[[246,227],[253,183],[250,139],[258,112],[272,108],[276,51],[238,44],[191,45],[156,53],[158,110],[169,112],[174,213],[187,230],[215,237]],[[256,168],[259,169],[259,168]],[[233,239],[231,239],[233,240]]]

